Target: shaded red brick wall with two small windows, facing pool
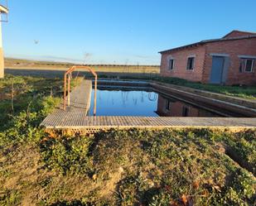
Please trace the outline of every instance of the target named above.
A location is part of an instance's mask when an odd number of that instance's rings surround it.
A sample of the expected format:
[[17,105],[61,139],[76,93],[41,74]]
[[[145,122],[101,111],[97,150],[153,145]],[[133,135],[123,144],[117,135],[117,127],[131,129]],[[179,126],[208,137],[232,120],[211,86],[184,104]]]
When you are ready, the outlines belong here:
[[[171,55],[175,59],[174,69],[168,69],[168,56]],[[187,70],[187,58],[190,55],[196,55],[195,68]],[[188,48],[185,50],[174,50],[168,54],[162,54],[160,74],[162,76],[177,77],[188,79],[191,81],[201,81],[202,71],[205,60],[205,46]]]

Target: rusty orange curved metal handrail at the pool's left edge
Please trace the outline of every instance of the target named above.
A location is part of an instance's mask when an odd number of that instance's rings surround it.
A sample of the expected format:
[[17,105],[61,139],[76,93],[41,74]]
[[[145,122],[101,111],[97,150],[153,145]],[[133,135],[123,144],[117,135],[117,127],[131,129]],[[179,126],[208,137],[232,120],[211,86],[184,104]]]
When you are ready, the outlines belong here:
[[94,69],[91,69],[89,66],[72,66],[70,69],[66,70],[64,74],[64,99],[63,99],[63,109],[65,110],[65,103],[66,103],[66,80],[67,80],[67,75],[68,75],[68,106],[70,106],[70,79],[71,79],[71,74],[75,69],[87,69],[89,70],[92,74],[94,74],[94,116],[96,115],[96,97],[97,97],[97,79],[98,75],[95,73]]

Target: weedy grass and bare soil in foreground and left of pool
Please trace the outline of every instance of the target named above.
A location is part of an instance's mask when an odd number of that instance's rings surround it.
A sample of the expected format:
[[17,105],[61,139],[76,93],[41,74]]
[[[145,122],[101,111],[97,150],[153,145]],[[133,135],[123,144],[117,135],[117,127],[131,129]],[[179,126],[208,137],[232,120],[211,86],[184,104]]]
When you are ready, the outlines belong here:
[[255,205],[256,130],[53,138],[39,124],[61,85],[0,80],[0,205]]

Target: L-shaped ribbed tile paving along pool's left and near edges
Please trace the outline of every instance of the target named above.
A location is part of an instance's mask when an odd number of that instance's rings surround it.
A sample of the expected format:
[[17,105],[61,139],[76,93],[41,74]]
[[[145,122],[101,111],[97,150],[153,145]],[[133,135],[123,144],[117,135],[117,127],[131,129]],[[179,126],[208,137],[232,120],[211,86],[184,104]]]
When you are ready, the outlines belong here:
[[244,117],[89,117],[87,116],[92,83],[90,80],[83,80],[70,93],[70,107],[64,111],[62,104],[56,108],[41,126],[46,130],[70,130],[70,131],[92,131],[108,130],[109,128],[183,128],[183,127],[211,127],[244,129],[255,128],[256,118]]

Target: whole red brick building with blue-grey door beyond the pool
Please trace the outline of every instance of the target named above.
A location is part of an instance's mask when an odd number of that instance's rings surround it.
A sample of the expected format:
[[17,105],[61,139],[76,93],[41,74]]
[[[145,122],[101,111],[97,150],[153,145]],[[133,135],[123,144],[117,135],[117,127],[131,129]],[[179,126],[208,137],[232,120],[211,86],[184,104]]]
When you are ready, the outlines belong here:
[[159,53],[162,76],[210,84],[256,84],[256,33],[231,31],[220,39]]

